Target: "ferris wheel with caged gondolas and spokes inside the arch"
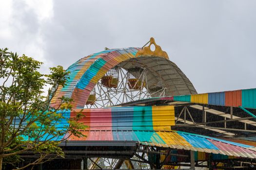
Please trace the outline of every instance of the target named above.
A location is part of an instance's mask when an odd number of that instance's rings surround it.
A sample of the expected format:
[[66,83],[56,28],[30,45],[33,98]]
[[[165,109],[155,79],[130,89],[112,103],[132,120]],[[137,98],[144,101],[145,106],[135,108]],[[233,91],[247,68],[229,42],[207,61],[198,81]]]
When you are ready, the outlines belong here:
[[115,106],[152,97],[164,97],[166,87],[147,86],[147,68],[121,68],[120,65],[108,70],[91,91],[86,108]]

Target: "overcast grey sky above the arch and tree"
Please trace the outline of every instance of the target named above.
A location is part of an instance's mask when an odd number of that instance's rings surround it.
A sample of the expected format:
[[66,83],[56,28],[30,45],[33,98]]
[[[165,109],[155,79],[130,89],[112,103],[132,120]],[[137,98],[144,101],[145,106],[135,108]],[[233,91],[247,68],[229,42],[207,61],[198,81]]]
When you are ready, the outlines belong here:
[[0,48],[43,71],[153,36],[198,93],[256,87],[256,0],[2,0]]

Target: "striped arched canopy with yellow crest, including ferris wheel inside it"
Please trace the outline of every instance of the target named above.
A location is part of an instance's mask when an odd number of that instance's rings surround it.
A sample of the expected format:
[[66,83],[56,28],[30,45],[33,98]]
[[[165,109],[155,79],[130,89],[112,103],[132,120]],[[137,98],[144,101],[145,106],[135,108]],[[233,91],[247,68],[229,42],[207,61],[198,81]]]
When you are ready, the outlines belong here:
[[58,88],[51,101],[53,107],[59,104],[61,96],[72,98],[73,108],[103,108],[147,98],[197,93],[154,38],[147,47],[106,49],[86,56],[67,71],[70,72],[67,85]]

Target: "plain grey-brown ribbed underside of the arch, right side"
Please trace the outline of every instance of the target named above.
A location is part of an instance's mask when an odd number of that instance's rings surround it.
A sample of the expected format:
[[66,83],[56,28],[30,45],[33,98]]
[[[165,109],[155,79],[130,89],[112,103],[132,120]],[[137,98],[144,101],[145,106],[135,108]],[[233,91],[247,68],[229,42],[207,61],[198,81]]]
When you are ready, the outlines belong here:
[[165,87],[167,96],[197,93],[192,83],[177,65],[165,58],[158,56],[135,57],[119,65],[126,70],[134,67],[147,68],[147,87],[149,89],[158,86]]

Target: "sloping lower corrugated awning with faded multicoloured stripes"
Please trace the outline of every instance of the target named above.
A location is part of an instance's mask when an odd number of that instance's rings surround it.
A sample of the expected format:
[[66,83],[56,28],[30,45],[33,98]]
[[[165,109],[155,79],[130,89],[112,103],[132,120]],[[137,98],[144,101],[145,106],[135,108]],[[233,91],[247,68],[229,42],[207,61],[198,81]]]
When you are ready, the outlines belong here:
[[256,151],[253,146],[184,132],[91,130],[83,131],[83,134],[87,136],[82,138],[70,136],[68,140],[138,141],[148,146],[256,158]]

